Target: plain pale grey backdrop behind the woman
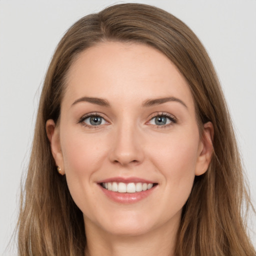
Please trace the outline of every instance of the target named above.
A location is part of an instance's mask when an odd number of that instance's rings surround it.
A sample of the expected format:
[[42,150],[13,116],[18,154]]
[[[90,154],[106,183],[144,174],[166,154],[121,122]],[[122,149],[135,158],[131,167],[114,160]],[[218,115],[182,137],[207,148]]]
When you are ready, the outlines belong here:
[[[126,1],[118,1],[126,2]],[[184,21],[219,75],[256,202],[256,1],[140,0]],[[16,255],[20,179],[28,164],[40,89],[57,42],[78,18],[112,0],[0,0],[0,255]],[[225,141],[223,141],[225,143]],[[256,245],[255,215],[249,222]]]

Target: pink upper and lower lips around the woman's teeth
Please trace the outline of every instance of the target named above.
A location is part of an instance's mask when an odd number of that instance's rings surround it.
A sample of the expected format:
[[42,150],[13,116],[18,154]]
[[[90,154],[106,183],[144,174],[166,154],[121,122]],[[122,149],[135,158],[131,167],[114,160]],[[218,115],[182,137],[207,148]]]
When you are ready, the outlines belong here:
[[147,189],[145,191],[140,191],[140,192],[135,192],[135,193],[119,193],[119,192],[114,192],[111,190],[107,190],[103,188],[100,184],[101,183],[106,183],[106,182],[123,182],[123,183],[153,183],[157,184],[156,182],[153,182],[151,180],[143,179],[143,178],[138,178],[138,177],[111,177],[111,178],[106,178],[103,180],[100,180],[97,182],[98,186],[100,187],[101,191],[104,193],[105,196],[107,196],[110,200],[118,202],[118,203],[135,203],[138,202],[147,196],[149,196],[152,192],[155,191],[155,188],[157,185],[154,185],[152,188]]

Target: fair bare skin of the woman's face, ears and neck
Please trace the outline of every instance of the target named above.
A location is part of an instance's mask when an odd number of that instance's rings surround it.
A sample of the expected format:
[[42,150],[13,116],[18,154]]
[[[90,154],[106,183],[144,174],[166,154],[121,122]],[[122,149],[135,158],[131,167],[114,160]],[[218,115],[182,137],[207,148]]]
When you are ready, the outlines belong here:
[[[158,50],[121,42],[86,49],[67,77],[60,120],[57,126],[48,120],[46,131],[56,165],[83,212],[87,255],[174,255],[182,206],[212,154],[212,124],[204,124],[200,138],[186,80]],[[74,103],[81,97],[103,98],[109,106]],[[144,106],[165,97],[177,100]],[[79,122],[95,112],[102,124]],[[174,119],[157,125],[157,114]],[[157,185],[138,202],[115,202],[97,182],[117,176]]]

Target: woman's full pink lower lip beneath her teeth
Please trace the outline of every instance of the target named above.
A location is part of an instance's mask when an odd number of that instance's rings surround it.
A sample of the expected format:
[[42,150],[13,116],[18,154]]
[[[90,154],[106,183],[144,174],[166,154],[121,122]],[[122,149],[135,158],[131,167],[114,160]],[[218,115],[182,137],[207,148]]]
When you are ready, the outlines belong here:
[[140,201],[147,196],[149,196],[155,189],[155,186],[152,188],[145,190],[145,191],[140,191],[140,192],[135,192],[135,193],[119,193],[119,192],[113,192],[111,190],[107,190],[103,188],[101,185],[99,185],[103,193],[110,198],[111,200],[115,202],[120,202],[120,203],[134,203],[137,201]]

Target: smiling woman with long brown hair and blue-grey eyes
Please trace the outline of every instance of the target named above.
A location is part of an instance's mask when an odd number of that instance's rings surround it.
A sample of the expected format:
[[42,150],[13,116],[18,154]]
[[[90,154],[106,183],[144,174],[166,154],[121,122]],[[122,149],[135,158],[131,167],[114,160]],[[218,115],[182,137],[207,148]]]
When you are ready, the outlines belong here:
[[255,255],[210,59],[171,14],[113,5],[78,20],[45,76],[20,255]]

